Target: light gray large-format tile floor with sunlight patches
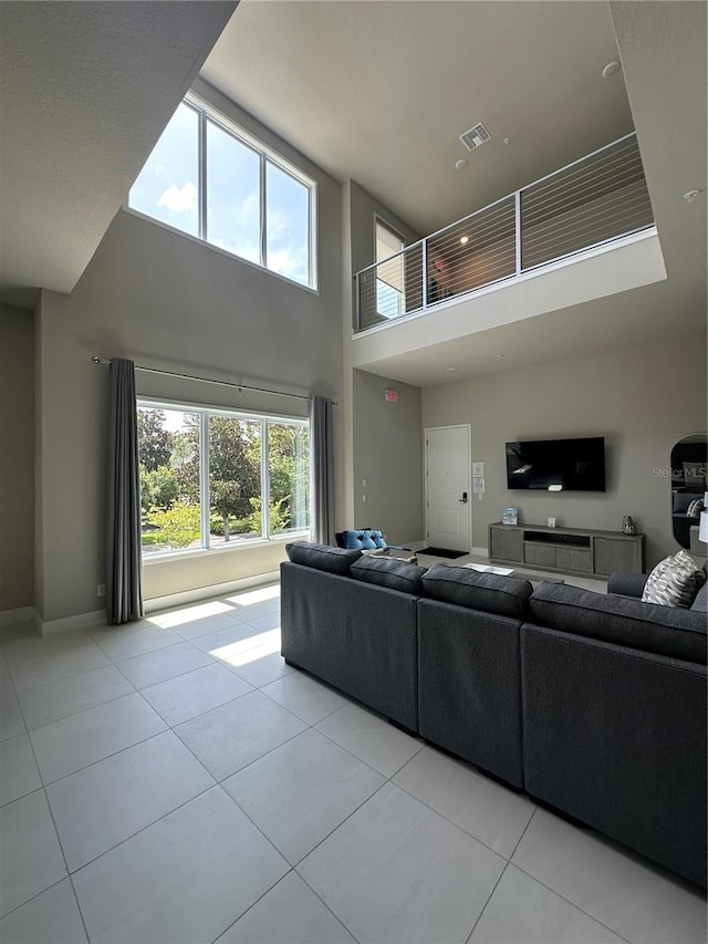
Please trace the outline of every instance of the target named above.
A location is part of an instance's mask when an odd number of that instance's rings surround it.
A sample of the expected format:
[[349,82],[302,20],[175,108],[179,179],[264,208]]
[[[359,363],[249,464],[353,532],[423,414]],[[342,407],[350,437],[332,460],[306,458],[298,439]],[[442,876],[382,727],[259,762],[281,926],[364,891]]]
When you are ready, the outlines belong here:
[[706,940],[693,885],[287,666],[277,585],[0,639],[3,944]]

